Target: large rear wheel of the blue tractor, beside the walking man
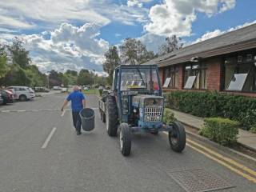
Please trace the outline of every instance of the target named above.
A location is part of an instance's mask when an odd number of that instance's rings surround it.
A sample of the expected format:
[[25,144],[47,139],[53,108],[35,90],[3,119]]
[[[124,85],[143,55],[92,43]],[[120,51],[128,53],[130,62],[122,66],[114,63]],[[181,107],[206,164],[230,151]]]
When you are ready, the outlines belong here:
[[[104,118],[104,114],[103,114]],[[103,119],[104,120],[104,119]],[[106,98],[106,132],[110,137],[117,135],[118,131],[118,106],[113,96]]]

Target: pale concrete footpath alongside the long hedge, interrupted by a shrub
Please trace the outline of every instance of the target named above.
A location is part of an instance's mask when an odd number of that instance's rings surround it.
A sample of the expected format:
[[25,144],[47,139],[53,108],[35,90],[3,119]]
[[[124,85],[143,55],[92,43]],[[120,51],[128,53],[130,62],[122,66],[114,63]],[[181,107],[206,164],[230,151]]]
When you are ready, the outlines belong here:
[[[174,112],[174,117],[178,119],[178,121],[192,126],[195,129],[201,129],[203,126],[203,118],[196,117],[191,114],[185,114],[177,110],[172,110]],[[243,146],[248,147],[251,150],[256,151],[256,134],[250,133],[249,131],[239,129],[238,134],[238,143]]]

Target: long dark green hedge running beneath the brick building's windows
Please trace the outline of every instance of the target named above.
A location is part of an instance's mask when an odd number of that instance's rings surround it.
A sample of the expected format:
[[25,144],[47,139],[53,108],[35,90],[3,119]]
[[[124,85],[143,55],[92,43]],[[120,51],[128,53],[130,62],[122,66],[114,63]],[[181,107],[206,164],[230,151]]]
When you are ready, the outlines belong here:
[[166,106],[174,110],[204,118],[230,118],[245,130],[256,127],[256,98],[207,91],[172,91],[165,97]]

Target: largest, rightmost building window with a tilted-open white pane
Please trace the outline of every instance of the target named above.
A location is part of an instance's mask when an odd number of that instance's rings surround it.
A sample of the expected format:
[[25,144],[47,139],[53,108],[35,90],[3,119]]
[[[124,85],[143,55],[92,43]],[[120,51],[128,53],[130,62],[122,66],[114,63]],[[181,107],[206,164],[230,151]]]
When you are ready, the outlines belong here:
[[256,92],[256,54],[226,58],[225,90]]

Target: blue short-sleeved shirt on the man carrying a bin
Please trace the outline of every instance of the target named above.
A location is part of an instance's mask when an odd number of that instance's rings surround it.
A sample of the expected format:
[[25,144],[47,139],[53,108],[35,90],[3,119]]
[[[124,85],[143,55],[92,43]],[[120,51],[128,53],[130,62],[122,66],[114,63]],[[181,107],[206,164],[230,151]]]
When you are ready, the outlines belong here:
[[69,96],[66,98],[67,101],[71,101],[71,109],[74,112],[78,112],[82,110],[82,100],[86,99],[85,96],[79,91],[76,90],[69,94]]

